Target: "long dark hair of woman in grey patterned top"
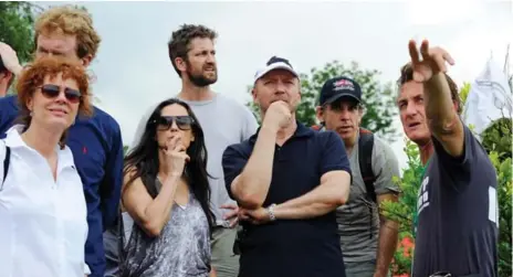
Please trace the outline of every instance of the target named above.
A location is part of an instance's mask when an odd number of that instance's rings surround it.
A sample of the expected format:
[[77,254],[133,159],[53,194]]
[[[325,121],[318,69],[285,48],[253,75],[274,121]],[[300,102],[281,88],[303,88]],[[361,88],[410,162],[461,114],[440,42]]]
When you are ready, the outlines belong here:
[[157,119],[163,109],[169,105],[178,104],[187,109],[187,114],[193,119],[192,135],[195,141],[191,141],[187,149],[187,155],[190,157],[190,161],[185,167],[185,179],[192,191],[195,198],[199,201],[201,209],[207,215],[210,234],[212,233],[214,215],[210,210],[210,187],[208,182],[209,174],[207,173],[207,148],[205,146],[203,130],[199,125],[198,118],[190,109],[187,103],[181,102],[177,98],[170,98],[161,102],[155,110],[151,113],[143,136],[140,137],[139,143],[128,152],[125,157],[124,175],[130,174],[130,179],[125,184],[130,185],[134,180],[140,178],[146,190],[151,198],[156,198],[158,194],[156,185],[156,177],[158,174],[159,161],[158,161],[158,142],[156,141]]

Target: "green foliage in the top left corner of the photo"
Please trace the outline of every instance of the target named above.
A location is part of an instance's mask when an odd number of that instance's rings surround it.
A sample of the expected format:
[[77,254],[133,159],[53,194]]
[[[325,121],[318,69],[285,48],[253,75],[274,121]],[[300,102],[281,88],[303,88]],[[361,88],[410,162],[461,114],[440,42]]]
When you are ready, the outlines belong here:
[[0,2],[0,41],[17,51],[20,62],[28,62],[34,50],[34,4]]

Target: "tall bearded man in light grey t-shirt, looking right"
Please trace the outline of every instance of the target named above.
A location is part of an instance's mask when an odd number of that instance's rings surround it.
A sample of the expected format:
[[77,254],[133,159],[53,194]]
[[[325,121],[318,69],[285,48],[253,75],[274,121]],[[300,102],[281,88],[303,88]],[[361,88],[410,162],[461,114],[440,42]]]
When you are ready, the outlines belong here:
[[[233,243],[239,209],[227,193],[222,153],[228,146],[251,137],[256,131],[258,122],[244,105],[210,88],[218,78],[216,38],[217,33],[203,25],[184,24],[172,33],[168,49],[171,64],[182,84],[176,97],[190,106],[205,132],[207,172],[211,175],[211,210],[216,215],[211,241],[212,267],[217,277],[235,277],[239,274],[239,255],[233,253]],[[150,107],[140,119],[133,146],[137,145],[154,108]],[[125,213],[125,235],[129,235],[132,226],[127,217]]]

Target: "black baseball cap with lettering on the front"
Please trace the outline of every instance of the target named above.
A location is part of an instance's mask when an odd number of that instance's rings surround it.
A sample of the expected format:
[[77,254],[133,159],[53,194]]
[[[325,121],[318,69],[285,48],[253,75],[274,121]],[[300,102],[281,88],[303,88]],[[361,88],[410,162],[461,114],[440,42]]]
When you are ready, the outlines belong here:
[[347,97],[349,99],[362,103],[362,87],[354,79],[348,77],[335,77],[326,81],[321,88],[318,104],[332,104],[333,102]]

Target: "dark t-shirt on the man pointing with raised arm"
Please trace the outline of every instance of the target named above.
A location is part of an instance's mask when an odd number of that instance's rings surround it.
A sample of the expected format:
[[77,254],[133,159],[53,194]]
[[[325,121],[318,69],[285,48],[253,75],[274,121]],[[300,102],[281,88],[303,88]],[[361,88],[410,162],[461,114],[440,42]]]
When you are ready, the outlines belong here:
[[496,173],[464,126],[464,152],[453,158],[433,138],[417,202],[413,277],[498,276]]

